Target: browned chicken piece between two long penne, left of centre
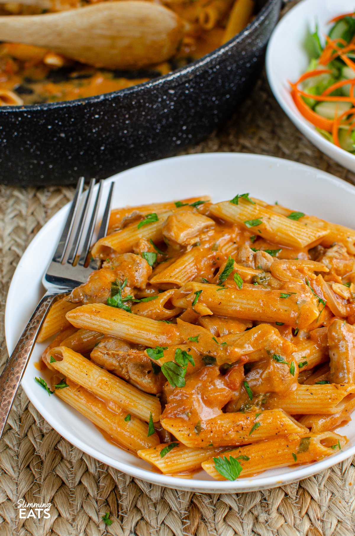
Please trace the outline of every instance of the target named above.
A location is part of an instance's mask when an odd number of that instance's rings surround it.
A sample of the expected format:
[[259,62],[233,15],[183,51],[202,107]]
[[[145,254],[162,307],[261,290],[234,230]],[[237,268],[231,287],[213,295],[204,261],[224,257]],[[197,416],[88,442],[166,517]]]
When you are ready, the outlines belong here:
[[159,368],[153,368],[143,350],[132,348],[115,337],[104,337],[90,357],[100,367],[147,393],[160,393],[166,381]]

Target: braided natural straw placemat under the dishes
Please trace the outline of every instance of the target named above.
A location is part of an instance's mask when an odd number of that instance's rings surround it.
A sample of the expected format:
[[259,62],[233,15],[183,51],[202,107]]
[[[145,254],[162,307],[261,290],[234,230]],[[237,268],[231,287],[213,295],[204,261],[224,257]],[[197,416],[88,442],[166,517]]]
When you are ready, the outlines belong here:
[[[350,181],[284,115],[263,76],[238,115],[190,152],[253,152],[297,160]],[[5,299],[28,243],[72,188],[0,187],[0,364],[7,358]],[[23,392],[0,442],[0,536],[353,536],[355,458],[315,477],[263,492],[179,492],[132,479],[74,448]],[[51,502],[49,519],[20,519],[18,500]],[[102,521],[110,512],[112,525]]]

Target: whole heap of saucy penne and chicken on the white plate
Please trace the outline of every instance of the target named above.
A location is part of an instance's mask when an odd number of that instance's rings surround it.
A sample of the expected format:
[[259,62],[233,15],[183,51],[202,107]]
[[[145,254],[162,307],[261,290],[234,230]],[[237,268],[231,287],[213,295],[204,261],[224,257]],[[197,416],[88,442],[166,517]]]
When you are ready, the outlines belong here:
[[320,460],[355,408],[354,254],[354,230],[249,193],[114,210],[36,381],[165,474]]

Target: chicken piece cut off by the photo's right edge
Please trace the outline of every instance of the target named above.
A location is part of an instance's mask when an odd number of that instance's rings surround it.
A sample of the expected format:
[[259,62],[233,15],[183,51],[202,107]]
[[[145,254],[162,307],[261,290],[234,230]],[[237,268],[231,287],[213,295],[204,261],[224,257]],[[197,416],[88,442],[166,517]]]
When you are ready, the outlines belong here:
[[330,382],[355,383],[355,326],[335,320],[328,329]]

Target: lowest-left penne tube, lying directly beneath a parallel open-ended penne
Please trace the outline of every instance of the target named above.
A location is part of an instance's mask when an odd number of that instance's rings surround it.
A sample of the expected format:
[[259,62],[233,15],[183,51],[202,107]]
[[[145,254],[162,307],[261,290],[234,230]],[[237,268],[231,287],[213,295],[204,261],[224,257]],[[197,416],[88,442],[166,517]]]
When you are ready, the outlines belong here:
[[89,419],[110,441],[131,452],[152,448],[159,443],[157,434],[148,437],[148,426],[145,422],[133,415],[127,421],[127,411],[113,404],[108,407],[105,401],[80,385],[70,380],[67,382],[68,386],[64,389],[56,389],[56,396]]

